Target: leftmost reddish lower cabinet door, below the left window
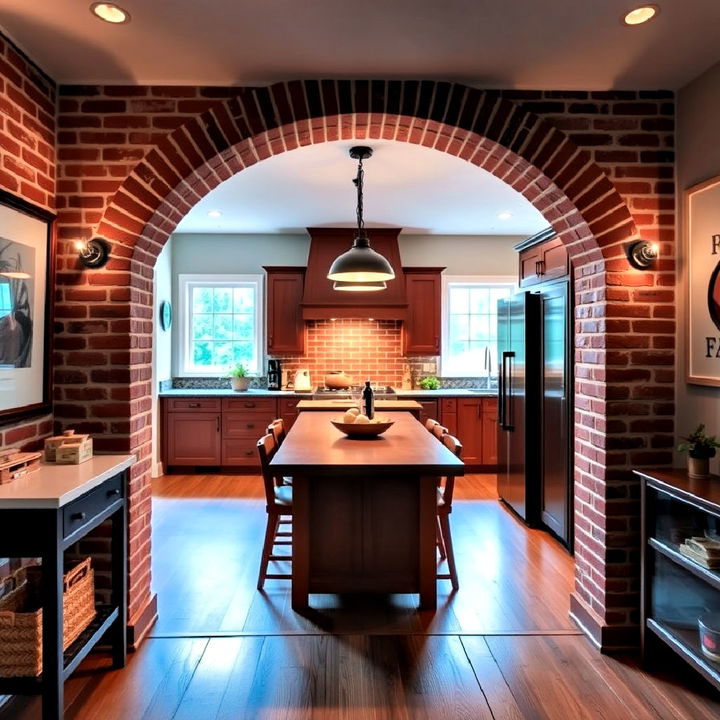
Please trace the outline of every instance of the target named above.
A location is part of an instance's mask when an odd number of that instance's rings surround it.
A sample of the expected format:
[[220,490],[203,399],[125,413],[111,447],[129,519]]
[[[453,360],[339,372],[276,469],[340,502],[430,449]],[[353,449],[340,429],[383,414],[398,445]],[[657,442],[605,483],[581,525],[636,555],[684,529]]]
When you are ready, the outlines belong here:
[[168,465],[220,465],[218,413],[167,413]]

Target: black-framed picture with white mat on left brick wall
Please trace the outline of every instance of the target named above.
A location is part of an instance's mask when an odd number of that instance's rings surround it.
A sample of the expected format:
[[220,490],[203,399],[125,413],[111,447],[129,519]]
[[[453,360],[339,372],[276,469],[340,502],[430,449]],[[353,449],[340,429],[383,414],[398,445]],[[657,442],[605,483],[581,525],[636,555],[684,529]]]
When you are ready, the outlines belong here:
[[0,424],[52,409],[55,215],[0,190]]

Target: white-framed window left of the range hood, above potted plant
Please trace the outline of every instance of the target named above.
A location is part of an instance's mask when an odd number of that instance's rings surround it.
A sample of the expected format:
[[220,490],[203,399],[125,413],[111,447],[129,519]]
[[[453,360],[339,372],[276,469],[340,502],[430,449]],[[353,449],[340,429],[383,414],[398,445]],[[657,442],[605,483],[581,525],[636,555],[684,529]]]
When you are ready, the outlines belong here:
[[224,375],[238,362],[260,374],[262,275],[179,275],[178,298],[181,374]]

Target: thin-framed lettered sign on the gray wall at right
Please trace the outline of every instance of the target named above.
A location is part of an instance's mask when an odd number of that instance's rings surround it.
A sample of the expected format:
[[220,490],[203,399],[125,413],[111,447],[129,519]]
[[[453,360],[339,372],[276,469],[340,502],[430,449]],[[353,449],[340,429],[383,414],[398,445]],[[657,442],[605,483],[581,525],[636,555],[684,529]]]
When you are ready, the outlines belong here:
[[684,231],[686,380],[720,386],[720,175],[685,190]]

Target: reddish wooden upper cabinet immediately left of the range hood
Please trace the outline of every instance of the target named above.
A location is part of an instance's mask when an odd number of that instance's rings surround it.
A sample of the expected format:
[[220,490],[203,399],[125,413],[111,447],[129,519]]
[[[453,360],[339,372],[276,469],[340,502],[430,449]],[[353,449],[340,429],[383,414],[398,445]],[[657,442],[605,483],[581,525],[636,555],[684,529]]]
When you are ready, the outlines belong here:
[[303,353],[305,323],[302,296],[305,268],[265,267],[267,273],[267,351]]

